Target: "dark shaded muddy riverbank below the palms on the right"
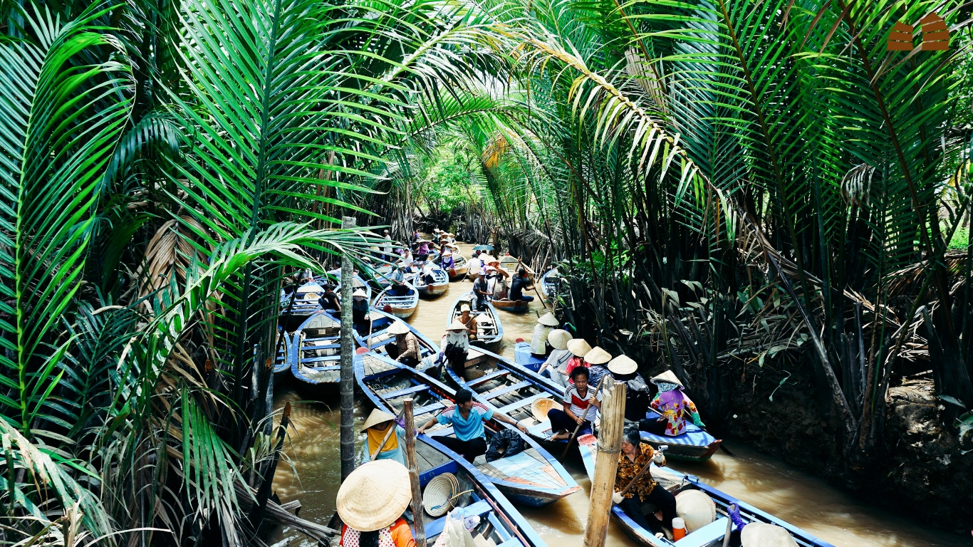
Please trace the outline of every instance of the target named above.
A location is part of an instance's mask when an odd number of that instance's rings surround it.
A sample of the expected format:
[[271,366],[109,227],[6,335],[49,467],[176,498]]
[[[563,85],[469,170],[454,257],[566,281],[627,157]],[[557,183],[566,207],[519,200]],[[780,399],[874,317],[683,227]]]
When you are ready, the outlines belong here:
[[973,439],[943,425],[949,403],[936,397],[931,379],[893,383],[883,428],[889,449],[859,471],[847,470],[839,423],[831,409],[822,412],[810,366],[739,367],[732,382],[731,412],[720,427],[728,436],[890,510],[970,536]]

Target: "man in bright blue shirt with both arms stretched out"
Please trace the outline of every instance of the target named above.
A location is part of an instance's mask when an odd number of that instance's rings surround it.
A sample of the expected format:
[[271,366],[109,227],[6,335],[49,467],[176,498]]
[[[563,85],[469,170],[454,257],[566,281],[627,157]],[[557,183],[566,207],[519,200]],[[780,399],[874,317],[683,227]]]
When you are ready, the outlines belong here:
[[456,406],[430,419],[425,425],[419,427],[417,432],[424,433],[437,421],[443,425],[452,425],[455,436],[436,436],[436,441],[445,445],[452,452],[465,457],[467,461],[473,461],[477,456],[486,454],[484,420],[493,418],[515,425],[524,433],[527,432],[527,428],[519,421],[494,413],[493,409],[487,408],[482,403],[474,403],[473,393],[469,389],[456,391]]

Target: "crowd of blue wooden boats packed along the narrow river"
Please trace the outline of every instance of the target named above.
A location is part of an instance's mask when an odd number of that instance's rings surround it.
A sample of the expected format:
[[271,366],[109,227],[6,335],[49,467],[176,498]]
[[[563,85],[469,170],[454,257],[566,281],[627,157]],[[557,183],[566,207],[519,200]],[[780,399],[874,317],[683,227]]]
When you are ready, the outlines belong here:
[[[492,248],[486,246],[484,250],[492,251]],[[405,399],[412,399],[416,424],[454,406],[457,390],[471,391],[478,404],[493,411],[494,418],[486,423],[487,441],[501,432],[512,431],[504,435],[520,436],[521,450],[517,454],[504,453],[489,461],[485,456],[467,461],[444,442],[444,439],[455,435],[452,427],[431,427],[418,435],[416,446],[421,488],[424,491],[429,489],[429,495],[432,495],[434,487],[437,492],[446,488],[449,491],[445,496],[448,508],[458,507],[466,516],[478,516],[482,528],[479,532],[484,538],[490,538],[493,545],[543,547],[543,539],[523,518],[517,505],[544,506],[581,492],[559,457],[578,457],[580,454],[591,477],[595,472],[595,437],[587,435],[580,440],[553,438],[547,411],[554,406],[559,407],[565,386],[552,378],[550,369],[539,372],[544,358],[532,352],[528,343],[517,343],[516,358],[513,360],[494,352],[503,339],[503,317],[498,310],[519,312],[526,310],[526,303],[523,306],[519,302],[513,306],[502,303],[497,307],[497,300],[487,300],[486,307],[477,310],[476,295],[471,291],[462,291],[463,294],[443,318],[450,325],[463,310],[468,313],[472,310],[477,319],[478,336],[466,353],[467,374],[462,376],[445,366],[441,344],[404,320],[419,306],[420,296],[437,298],[449,289],[450,282],[460,282],[466,277],[470,260],[458,256],[458,249],[454,246],[451,254],[450,266],[459,265],[458,268],[442,268],[434,262],[438,255],[430,253],[423,262],[412,260],[408,265],[399,263],[364,268],[362,272],[354,274],[354,294],[359,301],[368,303],[367,312],[358,317],[360,320],[352,328],[356,345],[354,380],[373,407],[392,416],[399,416]],[[384,256],[387,260],[388,255]],[[474,266],[484,270],[490,265],[502,269],[523,268],[532,280],[535,275],[515,257],[507,255],[496,260],[486,255],[484,258],[489,262],[477,257],[478,262]],[[402,272],[401,280],[393,280],[396,272]],[[542,298],[548,299],[558,293],[559,279],[558,270],[550,269],[536,279],[534,286]],[[317,400],[334,398],[338,393],[341,380],[341,315],[338,310],[327,310],[322,306],[322,303],[327,303],[327,298],[322,299],[322,295],[326,288],[334,288],[340,294],[341,283],[341,271],[307,275],[300,279],[294,290],[281,295],[275,383],[293,382],[298,390]],[[463,286],[465,289],[468,285],[464,283]],[[407,364],[390,355],[389,345],[395,342],[400,333],[411,333],[417,341],[417,363]],[[646,414],[646,418],[658,418],[651,409]],[[514,419],[525,427],[521,430],[496,419],[497,415]],[[692,423],[687,424],[686,431],[678,436],[648,432],[641,435],[645,443],[655,447],[667,446],[667,456],[676,459],[706,459],[716,452],[720,443],[702,427]],[[703,492],[712,500],[713,514],[709,522],[696,529],[687,529],[685,537],[675,539],[640,527],[617,505],[614,506],[613,519],[639,545],[726,547],[730,539],[731,527],[728,524],[732,505],[739,509],[744,522],[773,524],[786,529],[796,545],[830,545],[744,501],[703,484],[696,477],[655,463],[652,464],[651,473],[677,499],[681,492]],[[430,512],[427,508],[422,518],[427,541],[431,545],[444,529],[446,517],[443,512]],[[473,531],[476,536],[477,530]]]

